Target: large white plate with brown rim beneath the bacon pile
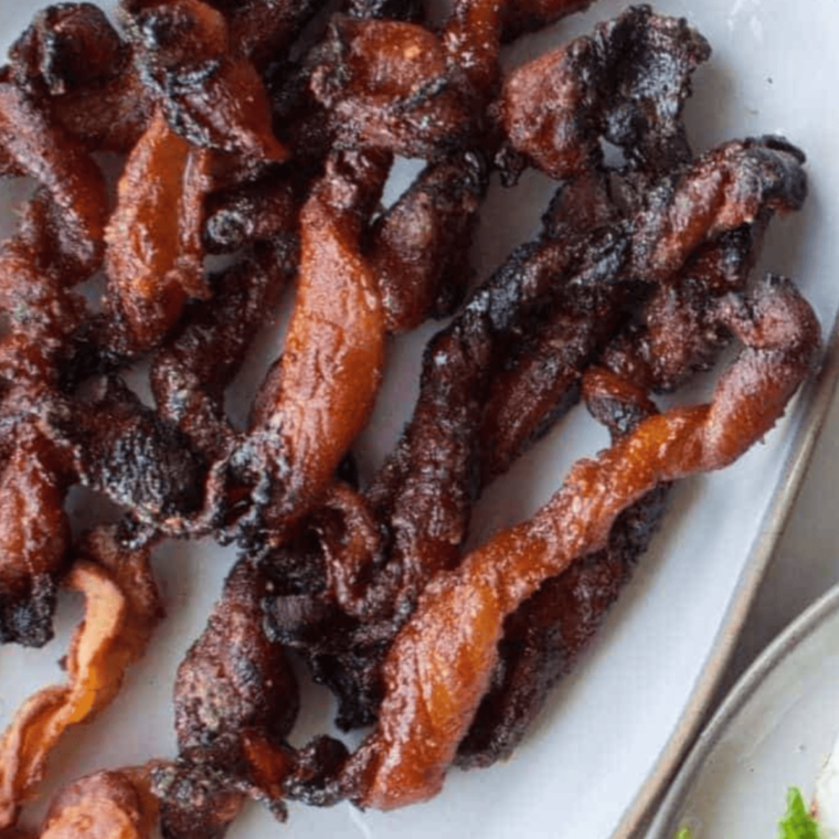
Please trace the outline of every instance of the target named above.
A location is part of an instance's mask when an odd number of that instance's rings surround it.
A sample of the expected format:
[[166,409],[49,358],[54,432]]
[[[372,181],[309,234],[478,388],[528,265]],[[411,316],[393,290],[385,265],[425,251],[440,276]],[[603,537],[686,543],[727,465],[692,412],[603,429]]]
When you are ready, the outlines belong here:
[[[0,0],[0,45],[42,4]],[[510,60],[521,61],[587,32],[595,21],[626,6],[603,0],[587,14],[517,46]],[[663,0],[658,9],[686,15],[714,46],[710,65],[697,74],[688,107],[697,150],[733,137],[779,132],[808,152],[811,198],[803,213],[774,224],[761,269],[797,277],[822,323],[832,323],[839,304],[839,6],[810,0],[804,13],[800,4],[786,0]],[[400,171],[392,195],[406,185],[416,166],[404,163]],[[2,189],[8,210],[20,190]],[[532,174],[514,193],[492,190],[475,247],[480,276],[537,230],[551,191],[544,179]],[[10,229],[10,219],[2,214],[0,234]],[[361,445],[368,468],[391,448],[410,414],[420,349],[433,331],[425,328],[393,348],[381,407]],[[261,346],[264,358],[240,382],[234,403],[252,392],[265,361],[277,352],[275,337],[264,337]],[[598,641],[510,762],[485,772],[455,772],[435,801],[402,813],[362,816],[349,806],[293,807],[284,833],[308,839],[627,836],[662,788],[701,718],[797,486],[832,375],[831,369],[819,387],[796,402],[766,444],[734,468],[678,489],[668,527],[644,557]],[[604,443],[605,435],[575,412],[482,499],[475,541],[530,514],[560,486],[575,457]],[[74,503],[78,518],[89,519],[89,497],[78,493]],[[158,552],[156,569],[169,619],[113,707],[67,736],[52,761],[45,794],[83,773],[173,754],[174,671],[201,631],[231,559],[230,552],[210,544],[169,544]],[[65,602],[57,638],[44,650],[0,650],[0,723],[29,692],[62,678],[56,661],[77,617],[78,604]],[[296,742],[328,729],[330,709],[330,699],[312,689]],[[30,813],[36,818],[38,806]],[[230,836],[267,836],[277,829],[270,821],[253,808]]]

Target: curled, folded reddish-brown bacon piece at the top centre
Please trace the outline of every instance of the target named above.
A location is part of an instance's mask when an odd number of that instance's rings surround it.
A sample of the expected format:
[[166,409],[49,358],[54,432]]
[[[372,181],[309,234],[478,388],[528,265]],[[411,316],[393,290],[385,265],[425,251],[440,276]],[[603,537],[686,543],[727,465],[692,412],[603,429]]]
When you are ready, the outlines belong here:
[[[339,142],[429,159],[476,145],[489,130],[505,23],[516,25],[508,6],[516,3],[465,0],[439,36],[403,21],[333,15],[311,89]],[[546,22],[583,6],[549,0],[541,11]]]

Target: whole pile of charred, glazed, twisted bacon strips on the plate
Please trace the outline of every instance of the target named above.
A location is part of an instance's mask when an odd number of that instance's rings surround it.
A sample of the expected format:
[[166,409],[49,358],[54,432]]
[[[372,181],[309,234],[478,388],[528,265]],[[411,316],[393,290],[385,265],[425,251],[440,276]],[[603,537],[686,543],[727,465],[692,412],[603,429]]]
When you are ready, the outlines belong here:
[[[3,838],[26,836],[51,751],[150,642],[166,538],[241,550],[178,673],[179,756],[73,784],[42,839],[142,839],[158,820],[212,839],[253,798],[279,818],[295,800],[400,807],[506,757],[671,484],[760,440],[815,363],[792,282],[748,284],[772,217],[805,200],[804,156],[762,137],[694,157],[681,115],[710,47],[683,20],[629,8],[505,78],[502,44],[587,2],[455,0],[439,24],[416,0],[338,6],[123,0],[118,34],[63,3],[0,70],[0,173],[35,183],[0,252],[0,639],[50,640],[62,586],[87,604],[66,683],[0,740]],[[395,157],[426,167],[385,211]],[[528,167],[557,182],[542,230],[476,285],[489,178]],[[103,277],[95,306],[82,284]],[[225,390],[293,283],[237,429]],[[413,417],[361,485],[389,339],[428,318],[449,319]],[[710,403],[657,410],[733,340]],[[156,410],[126,384],[140,363]],[[467,553],[482,489],[581,400],[612,446]],[[73,537],[73,486],[118,520]],[[289,745],[289,650],[342,729],[373,726],[354,753]]]

